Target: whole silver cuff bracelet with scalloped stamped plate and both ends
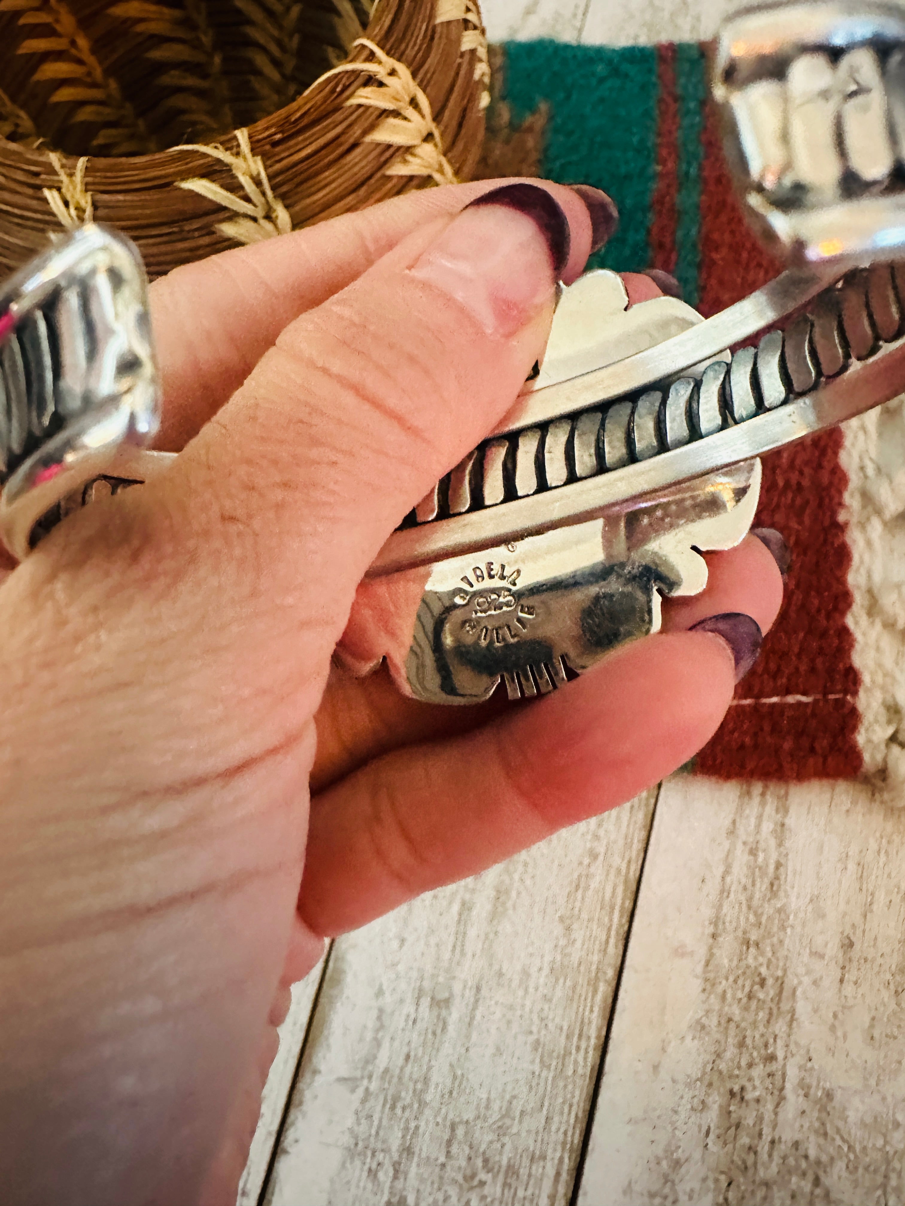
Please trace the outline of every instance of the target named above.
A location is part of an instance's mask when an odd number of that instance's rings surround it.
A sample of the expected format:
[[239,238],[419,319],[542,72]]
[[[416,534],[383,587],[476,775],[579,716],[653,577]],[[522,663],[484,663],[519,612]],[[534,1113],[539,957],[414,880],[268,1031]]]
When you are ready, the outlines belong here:
[[[340,661],[385,658],[434,703],[551,691],[703,589],[700,554],[751,526],[759,456],[905,387],[904,54],[886,6],[725,24],[728,159],[789,269],[706,322],[627,308],[613,273],[565,289],[539,375],[381,549]],[[22,558],[171,462],[136,451],[158,388],[134,248],[86,227],[48,251],[0,294],[0,535]]]

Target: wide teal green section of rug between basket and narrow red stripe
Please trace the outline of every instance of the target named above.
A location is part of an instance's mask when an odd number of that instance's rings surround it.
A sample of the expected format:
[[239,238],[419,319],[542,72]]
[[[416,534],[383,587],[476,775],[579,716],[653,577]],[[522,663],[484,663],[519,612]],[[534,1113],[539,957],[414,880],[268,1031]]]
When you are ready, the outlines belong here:
[[[619,206],[619,230],[591,267],[649,268],[659,93],[654,47],[508,42],[506,60],[504,99],[513,118],[521,122],[539,104],[549,105],[543,175],[595,185]],[[696,287],[695,276],[695,294]]]

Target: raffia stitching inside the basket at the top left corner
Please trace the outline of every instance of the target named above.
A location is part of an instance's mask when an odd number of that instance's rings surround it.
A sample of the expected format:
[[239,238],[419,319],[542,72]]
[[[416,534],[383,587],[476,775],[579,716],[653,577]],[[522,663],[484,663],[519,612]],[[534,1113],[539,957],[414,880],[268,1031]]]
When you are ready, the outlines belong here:
[[64,0],[0,0],[0,12],[18,12],[18,25],[45,27],[40,36],[27,37],[17,54],[51,55],[31,76],[33,82],[58,80],[49,104],[77,104],[71,123],[101,125],[92,147],[110,147],[115,154],[157,150],[132,105],[123,99],[119,84],[106,75],[91,40]]

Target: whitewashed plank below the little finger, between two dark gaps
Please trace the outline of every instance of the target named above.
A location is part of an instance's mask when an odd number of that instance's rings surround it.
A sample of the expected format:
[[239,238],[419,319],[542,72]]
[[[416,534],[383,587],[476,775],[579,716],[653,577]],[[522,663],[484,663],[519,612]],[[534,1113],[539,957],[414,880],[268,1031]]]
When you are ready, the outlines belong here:
[[270,1206],[568,1202],[654,798],[334,944]]

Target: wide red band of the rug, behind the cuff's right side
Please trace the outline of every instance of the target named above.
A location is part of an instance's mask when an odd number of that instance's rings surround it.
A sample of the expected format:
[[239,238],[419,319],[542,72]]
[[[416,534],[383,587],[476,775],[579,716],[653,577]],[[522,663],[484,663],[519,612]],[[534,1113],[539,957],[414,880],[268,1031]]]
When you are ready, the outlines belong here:
[[[710,316],[766,283],[782,265],[745,223],[712,107],[703,151],[700,310]],[[852,597],[840,520],[846,490],[841,443],[836,428],[764,458],[755,526],[782,532],[792,549],[792,569],[760,658],[697,759],[703,774],[811,779],[851,778],[860,771],[858,672],[846,625]]]

